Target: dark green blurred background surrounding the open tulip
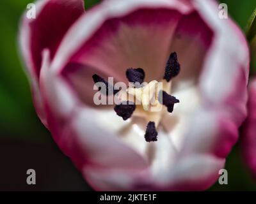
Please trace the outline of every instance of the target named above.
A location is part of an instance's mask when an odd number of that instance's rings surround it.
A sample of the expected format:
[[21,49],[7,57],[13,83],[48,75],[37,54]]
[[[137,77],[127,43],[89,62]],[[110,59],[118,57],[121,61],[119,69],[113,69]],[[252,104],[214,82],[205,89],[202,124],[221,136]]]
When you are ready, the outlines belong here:
[[[87,0],[86,9],[99,0]],[[201,0],[207,1],[207,0]],[[0,1],[0,191],[90,190],[71,161],[54,144],[36,116],[28,79],[17,51],[19,19],[29,0]],[[255,0],[225,0],[241,29],[256,8]],[[36,170],[36,185],[26,184],[26,170]],[[227,157],[228,185],[210,191],[255,191],[256,180],[244,167],[239,143]]]

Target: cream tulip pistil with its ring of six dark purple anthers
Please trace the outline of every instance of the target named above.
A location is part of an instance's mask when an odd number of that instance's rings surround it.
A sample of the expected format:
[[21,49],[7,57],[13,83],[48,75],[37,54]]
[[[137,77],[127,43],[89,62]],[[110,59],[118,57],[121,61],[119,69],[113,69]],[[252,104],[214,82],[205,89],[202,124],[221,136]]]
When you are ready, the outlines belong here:
[[[120,104],[116,105],[114,110],[122,119],[127,120],[136,115],[144,117],[147,121],[145,127],[145,140],[147,142],[157,141],[157,126],[167,111],[172,113],[175,103],[179,103],[179,99],[170,95],[172,87],[172,78],[179,75],[180,64],[178,62],[176,52],[170,54],[164,71],[163,80],[157,82],[152,80],[148,84],[144,82],[145,71],[141,68],[129,68],[126,71],[126,77],[129,80],[129,87],[125,91],[114,90],[113,86],[108,84],[104,78],[99,75],[93,75],[95,83],[104,83],[105,94],[113,94],[118,98]],[[99,91],[101,87],[99,87]],[[164,108],[164,106],[166,108]]]

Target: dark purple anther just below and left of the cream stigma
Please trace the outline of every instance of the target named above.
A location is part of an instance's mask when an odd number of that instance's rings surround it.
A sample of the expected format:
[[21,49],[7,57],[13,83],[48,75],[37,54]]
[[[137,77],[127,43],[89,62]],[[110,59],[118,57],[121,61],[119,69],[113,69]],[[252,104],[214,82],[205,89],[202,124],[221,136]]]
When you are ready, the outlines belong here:
[[131,101],[124,101],[120,105],[116,105],[114,110],[118,116],[123,118],[123,120],[127,120],[132,116],[135,108],[136,105]]

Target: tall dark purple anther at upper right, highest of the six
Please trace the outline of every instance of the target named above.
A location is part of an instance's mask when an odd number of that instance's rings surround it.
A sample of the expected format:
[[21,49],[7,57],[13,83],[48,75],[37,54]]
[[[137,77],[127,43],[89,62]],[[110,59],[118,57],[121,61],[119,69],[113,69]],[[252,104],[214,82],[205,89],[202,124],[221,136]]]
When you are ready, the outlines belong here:
[[166,62],[165,72],[164,72],[164,79],[167,82],[173,77],[176,77],[180,73],[180,64],[178,62],[177,53],[173,52],[170,54],[168,61]]

